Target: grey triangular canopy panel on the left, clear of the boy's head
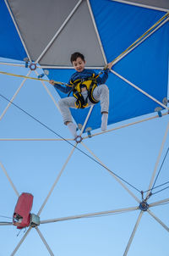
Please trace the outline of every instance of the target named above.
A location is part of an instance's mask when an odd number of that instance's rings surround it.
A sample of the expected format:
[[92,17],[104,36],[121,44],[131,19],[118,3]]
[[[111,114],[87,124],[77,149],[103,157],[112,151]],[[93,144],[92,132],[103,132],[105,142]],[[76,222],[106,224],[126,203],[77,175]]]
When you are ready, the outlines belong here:
[[8,0],[30,58],[36,60],[78,0]]

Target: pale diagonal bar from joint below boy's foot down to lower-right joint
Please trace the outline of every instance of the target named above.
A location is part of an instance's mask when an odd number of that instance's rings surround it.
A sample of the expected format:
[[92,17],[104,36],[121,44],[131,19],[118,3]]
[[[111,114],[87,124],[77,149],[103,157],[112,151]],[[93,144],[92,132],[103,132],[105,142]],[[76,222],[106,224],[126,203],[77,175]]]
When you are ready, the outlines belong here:
[[123,188],[130,194],[130,196],[132,196],[138,203],[141,202],[141,201],[139,200],[139,198],[137,198],[137,197],[134,195],[134,193],[131,192],[131,191],[128,189],[128,187],[125,186],[125,185],[123,184],[123,182],[120,181],[120,179],[119,179],[116,175],[114,175],[114,174],[112,173],[112,171],[110,171],[110,170],[106,167],[106,165],[101,162],[101,160],[100,160],[99,158],[97,158],[97,157],[95,156],[95,154],[84,144],[84,142],[81,142],[81,144],[90,152],[90,154],[91,154],[92,156],[94,156],[94,158],[95,158],[97,161],[99,161],[99,162],[101,163],[101,165],[102,165],[103,167],[106,168],[106,170],[114,177],[114,179],[115,179],[121,186],[123,186]]

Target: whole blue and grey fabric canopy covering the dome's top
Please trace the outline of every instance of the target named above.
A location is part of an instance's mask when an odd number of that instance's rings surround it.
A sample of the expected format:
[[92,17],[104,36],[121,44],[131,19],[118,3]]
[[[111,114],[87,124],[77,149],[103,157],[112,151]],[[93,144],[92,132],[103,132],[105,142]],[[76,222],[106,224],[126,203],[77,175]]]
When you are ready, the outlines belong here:
[[[0,56],[29,58],[30,63],[49,70],[50,79],[63,82],[74,73],[71,53],[83,53],[86,67],[97,72],[114,60],[107,81],[108,124],[128,120],[165,108],[168,8],[166,0],[98,0],[97,4],[94,0],[10,0],[3,2],[0,9]],[[77,124],[84,124],[88,112],[89,109],[72,111]],[[100,112],[100,105],[95,105],[85,128],[101,126]]]

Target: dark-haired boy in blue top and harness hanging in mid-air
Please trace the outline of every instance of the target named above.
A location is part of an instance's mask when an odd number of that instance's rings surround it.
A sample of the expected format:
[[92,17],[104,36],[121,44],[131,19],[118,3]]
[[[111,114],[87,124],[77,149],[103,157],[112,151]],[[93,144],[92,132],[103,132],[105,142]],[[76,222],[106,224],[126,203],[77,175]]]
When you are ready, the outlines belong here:
[[[64,93],[74,92],[74,97],[64,97],[59,100],[58,105],[63,115],[63,122],[68,125],[74,139],[77,136],[76,125],[73,123],[69,108],[84,109],[101,101],[101,131],[106,131],[109,109],[109,90],[105,85],[108,78],[108,72],[112,64],[107,64],[107,69],[103,75],[98,76],[94,70],[85,70],[85,57],[82,53],[73,53],[70,58],[76,72],[71,75],[68,86],[55,84],[49,81],[55,89]],[[92,78],[91,78],[92,77]],[[100,85],[100,86],[97,86]]]

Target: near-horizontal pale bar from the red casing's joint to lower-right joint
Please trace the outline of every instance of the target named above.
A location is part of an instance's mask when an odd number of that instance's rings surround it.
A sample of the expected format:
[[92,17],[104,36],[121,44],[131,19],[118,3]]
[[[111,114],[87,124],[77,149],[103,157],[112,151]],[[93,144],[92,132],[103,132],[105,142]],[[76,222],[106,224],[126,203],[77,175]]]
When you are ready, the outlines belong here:
[[54,223],[57,221],[64,221],[64,220],[77,220],[77,219],[83,219],[83,218],[89,218],[89,217],[96,217],[96,216],[100,216],[100,215],[106,216],[109,214],[121,214],[121,213],[125,213],[125,212],[135,211],[138,209],[139,209],[139,207],[130,207],[130,208],[124,208],[124,209],[114,209],[114,210],[108,210],[108,211],[102,211],[102,212],[95,212],[95,213],[90,213],[90,214],[79,214],[79,215],[56,218],[56,219],[51,219],[51,220],[41,220],[41,224]]

